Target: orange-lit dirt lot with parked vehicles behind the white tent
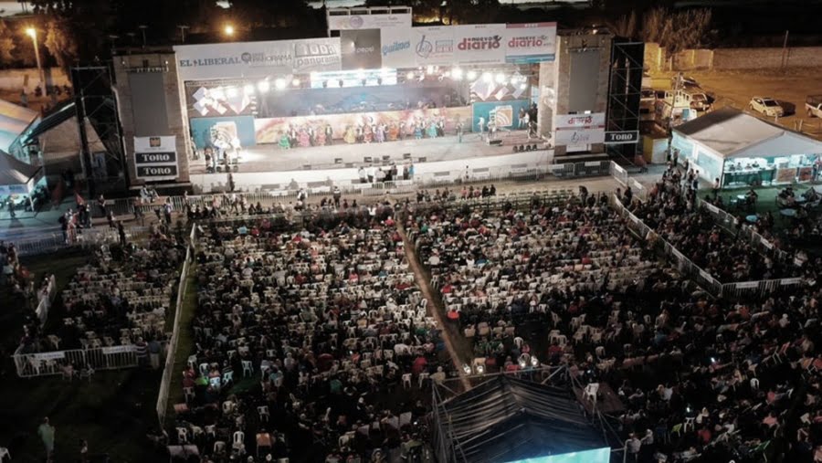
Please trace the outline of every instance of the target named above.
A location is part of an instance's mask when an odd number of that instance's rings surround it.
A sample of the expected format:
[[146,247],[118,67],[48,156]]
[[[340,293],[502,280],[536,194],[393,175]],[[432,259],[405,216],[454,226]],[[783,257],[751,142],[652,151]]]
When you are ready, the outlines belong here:
[[[654,89],[670,89],[671,72],[652,76]],[[786,129],[800,130],[822,139],[822,119],[808,117],[805,100],[808,95],[822,95],[822,68],[746,69],[735,71],[685,71],[684,76],[696,79],[702,89],[716,99],[714,109],[731,106],[747,110],[754,96],[780,101],[785,117],[779,123]],[[762,117],[758,112],[752,114]],[[768,121],[774,121],[768,118]]]

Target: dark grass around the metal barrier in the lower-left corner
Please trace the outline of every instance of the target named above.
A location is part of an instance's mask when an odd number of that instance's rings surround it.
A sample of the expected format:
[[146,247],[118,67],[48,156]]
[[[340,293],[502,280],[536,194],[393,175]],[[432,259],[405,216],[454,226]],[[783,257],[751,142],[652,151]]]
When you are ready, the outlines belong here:
[[[82,249],[64,249],[21,258],[21,263],[36,281],[46,273],[54,273],[59,294],[88,258],[88,252]],[[81,438],[89,442],[92,456],[108,454],[114,461],[124,462],[161,460],[161,454],[145,438],[157,419],[154,405],[160,372],[98,372],[90,382],[72,383],[59,376],[18,378],[9,355],[22,334],[26,310],[32,308],[7,288],[0,289],[0,297],[4,300],[0,310],[0,447],[8,447],[14,461],[43,461],[45,451],[37,437],[37,426],[48,416],[56,428],[58,461],[78,461]],[[58,298],[49,313],[47,330],[60,322],[62,311]]]

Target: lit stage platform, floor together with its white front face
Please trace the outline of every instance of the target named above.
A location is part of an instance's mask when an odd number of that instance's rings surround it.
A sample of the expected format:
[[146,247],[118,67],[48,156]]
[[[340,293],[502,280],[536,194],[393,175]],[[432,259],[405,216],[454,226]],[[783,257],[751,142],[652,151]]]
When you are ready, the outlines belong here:
[[[416,180],[445,181],[464,177],[467,168],[469,176],[474,178],[496,178],[506,170],[521,172],[553,161],[553,150],[548,150],[543,142],[529,142],[524,131],[502,132],[497,138],[502,141],[501,145],[488,144],[479,133],[463,135],[462,142],[458,142],[456,136],[446,136],[384,143],[337,142],[331,146],[288,150],[276,144],[257,145],[242,149],[232,176],[237,190],[274,190],[292,182],[357,183],[360,166],[413,163]],[[537,151],[514,153],[514,145],[525,144],[535,144]],[[227,184],[225,171],[205,172],[203,158],[190,163],[190,177],[191,183],[204,192]]]

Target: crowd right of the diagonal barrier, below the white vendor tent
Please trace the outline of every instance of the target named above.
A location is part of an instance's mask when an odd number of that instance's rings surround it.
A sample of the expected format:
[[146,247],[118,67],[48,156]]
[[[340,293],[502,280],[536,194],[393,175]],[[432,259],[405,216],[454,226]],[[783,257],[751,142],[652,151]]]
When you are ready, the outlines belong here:
[[[760,253],[749,241],[719,226],[698,204],[693,171],[680,174],[670,168],[648,192],[646,201],[633,197],[630,188],[619,192],[628,209],[676,247],[699,268],[722,283],[796,277],[801,269],[792,261]],[[744,225],[739,221],[737,226]]]

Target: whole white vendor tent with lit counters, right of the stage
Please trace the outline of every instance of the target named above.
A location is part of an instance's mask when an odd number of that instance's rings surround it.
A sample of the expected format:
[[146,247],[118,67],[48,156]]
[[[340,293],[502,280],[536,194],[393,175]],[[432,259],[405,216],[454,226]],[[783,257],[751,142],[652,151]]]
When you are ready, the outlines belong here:
[[739,110],[713,111],[672,133],[680,160],[722,187],[811,182],[822,170],[822,142]]

